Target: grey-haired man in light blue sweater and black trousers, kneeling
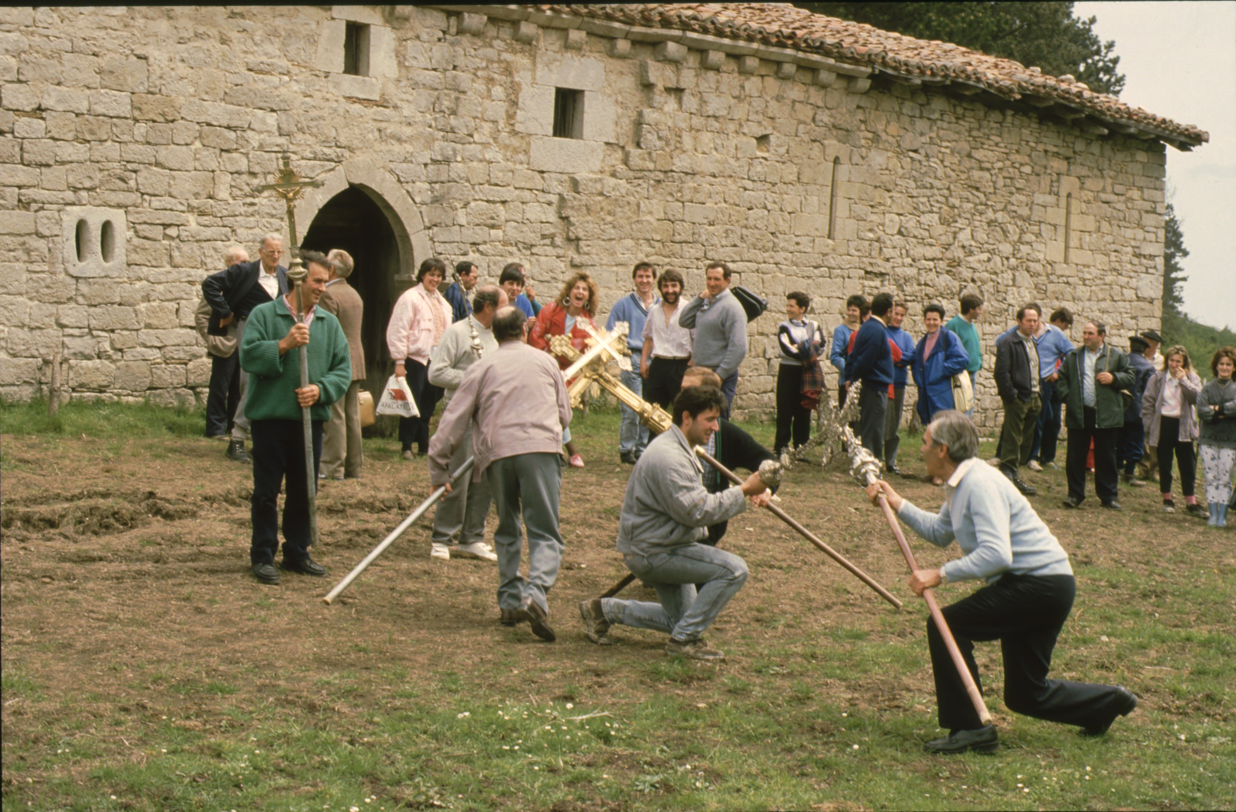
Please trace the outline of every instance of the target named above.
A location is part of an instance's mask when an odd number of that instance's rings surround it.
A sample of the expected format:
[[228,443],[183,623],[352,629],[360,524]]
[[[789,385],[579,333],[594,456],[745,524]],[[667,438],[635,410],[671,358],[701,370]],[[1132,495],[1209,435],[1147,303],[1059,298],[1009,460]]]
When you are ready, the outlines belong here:
[[[1005,669],[1005,704],[1048,722],[1075,724],[1085,735],[1101,735],[1117,717],[1132,713],[1137,697],[1121,686],[1048,680],[1052,650],[1073,608],[1077,585],[1069,556],[1017,488],[975,454],[979,434],[960,412],[941,412],[923,431],[922,455],[928,476],[944,481],[938,513],[917,508],[880,480],[868,488],[923,539],[939,548],[957,540],[965,555],[938,569],[910,576],[916,594],[954,581],[986,583],[944,607],[944,622],[957,639],[975,685],[976,640],[1000,640]],[[999,738],[983,725],[933,620],[927,622],[939,725],[949,734],[925,745],[928,753],[994,753]]]

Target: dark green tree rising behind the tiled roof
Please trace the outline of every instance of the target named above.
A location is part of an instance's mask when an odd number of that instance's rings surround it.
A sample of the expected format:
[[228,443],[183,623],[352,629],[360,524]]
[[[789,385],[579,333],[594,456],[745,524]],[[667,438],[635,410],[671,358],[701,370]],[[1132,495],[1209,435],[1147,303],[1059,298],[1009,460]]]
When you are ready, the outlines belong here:
[[1116,43],[1094,32],[1096,17],[1073,16],[1072,2],[796,2],[843,20],[918,40],[942,40],[1016,59],[1052,75],[1072,74],[1091,90],[1120,95]]

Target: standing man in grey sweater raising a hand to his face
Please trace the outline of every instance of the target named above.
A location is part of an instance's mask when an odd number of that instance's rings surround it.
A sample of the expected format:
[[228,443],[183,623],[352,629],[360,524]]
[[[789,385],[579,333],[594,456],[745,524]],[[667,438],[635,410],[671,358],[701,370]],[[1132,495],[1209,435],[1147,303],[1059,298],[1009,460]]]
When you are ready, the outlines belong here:
[[696,331],[691,351],[695,363],[721,376],[721,393],[726,395],[721,417],[728,420],[738,392],[738,367],[747,357],[747,311],[729,292],[728,264],[713,262],[703,276],[707,290],[682,308],[679,326]]

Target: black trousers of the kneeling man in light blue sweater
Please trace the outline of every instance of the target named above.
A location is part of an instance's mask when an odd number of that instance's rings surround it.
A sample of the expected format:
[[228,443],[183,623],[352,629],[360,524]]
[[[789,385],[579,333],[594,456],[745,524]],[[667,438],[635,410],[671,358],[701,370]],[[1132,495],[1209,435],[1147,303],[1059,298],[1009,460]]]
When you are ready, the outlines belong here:
[[[974,644],[1000,640],[1005,704],[1010,711],[1078,727],[1101,724],[1114,716],[1116,703],[1124,702],[1124,695],[1115,687],[1047,679],[1056,638],[1073,608],[1075,590],[1072,575],[1004,575],[995,583],[942,609],[980,692],[983,682],[974,662]],[[983,727],[931,618],[927,619],[927,641],[936,676],[939,727],[952,730]]]

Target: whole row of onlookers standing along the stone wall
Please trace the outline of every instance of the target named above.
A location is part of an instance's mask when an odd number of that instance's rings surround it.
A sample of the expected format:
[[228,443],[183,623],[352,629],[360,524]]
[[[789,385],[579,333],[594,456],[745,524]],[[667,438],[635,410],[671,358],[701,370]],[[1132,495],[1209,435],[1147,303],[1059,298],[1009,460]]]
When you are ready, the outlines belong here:
[[[229,440],[227,456],[248,461],[245,440],[250,434],[245,400],[248,376],[239,361],[250,313],[257,305],[289,292],[278,235],[267,235],[260,258],[250,262],[240,247],[225,256],[225,271],[203,282],[198,325],[213,358],[206,408],[206,434]],[[352,260],[344,251],[326,255],[329,281],[318,307],[334,314],[351,351],[352,383],[332,405],[324,429],[321,478],[360,476],[361,444],[357,393],[366,377],[360,344],[363,304],[347,278]],[[415,281],[396,302],[386,330],[394,373],[407,382],[418,417],[399,419],[403,459],[423,456],[429,446],[429,421],[444,388],[434,383],[435,351],[450,325],[473,316],[475,302],[489,303],[492,311],[513,304],[530,324],[528,344],[550,351],[550,339],[569,336],[576,350],[598,332],[599,290],[586,272],[572,274],[557,295],[546,303],[536,298],[527,268],[507,264],[496,285],[480,285],[476,263],[462,261],[446,284],[447,264],[436,257],[421,262]],[[735,292],[732,272],[723,262],[707,263],[705,289],[686,293],[684,276],[674,269],[658,272],[649,262],[632,271],[632,290],[611,308],[606,328],[625,323],[630,370],[622,382],[644,399],[669,408],[681,388],[688,366],[706,367],[721,378],[724,417],[738,389],[739,367],[748,351],[747,324],[754,318]],[[480,290],[485,295],[476,299]],[[489,302],[492,299],[492,302]],[[975,293],[960,297],[959,313],[948,318],[943,304],[922,309],[922,331],[906,328],[908,305],[889,293],[868,300],[845,300],[844,320],[831,332],[810,318],[811,298],[795,290],[786,294],[786,319],[777,325],[776,433],[774,451],[781,454],[807,442],[819,398],[824,395],[822,363],[838,374],[838,405],[855,382],[858,395],[855,431],[863,445],[899,473],[900,426],[906,413],[906,387],[917,392],[913,414],[922,425],[946,409],[973,415],[979,376],[983,374],[983,340],[976,324],[984,300]],[[1099,320],[1080,325],[1082,344],[1070,332],[1074,316],[1057,308],[1048,318],[1037,303],[1016,311],[1015,323],[995,341],[990,376],[1004,405],[996,457],[991,460],[1026,496],[1036,488],[1025,471],[1056,468],[1062,426],[1068,428],[1064,467],[1068,473],[1065,504],[1085,499],[1086,472],[1094,472],[1099,502],[1121,509],[1119,486],[1142,487],[1158,480],[1166,510],[1175,509],[1173,467],[1180,481],[1184,509],[1226,522],[1231,471],[1236,462],[1236,387],[1232,366],[1236,349],[1219,350],[1209,363],[1214,376],[1203,386],[1188,351],[1182,346],[1159,352],[1162,336],[1146,330],[1131,336],[1127,351],[1111,344]],[[492,316],[491,316],[492,318]],[[487,325],[470,325],[473,336]],[[917,337],[916,337],[917,334]],[[462,335],[462,334],[461,334]],[[459,341],[456,341],[457,344]],[[989,356],[989,357],[991,357]],[[557,358],[560,368],[567,358]],[[439,361],[442,363],[442,361]],[[622,407],[618,454],[634,463],[649,441],[638,414]],[[585,461],[562,433],[566,459],[574,467]],[[1196,465],[1205,472],[1206,503],[1195,493]]]

